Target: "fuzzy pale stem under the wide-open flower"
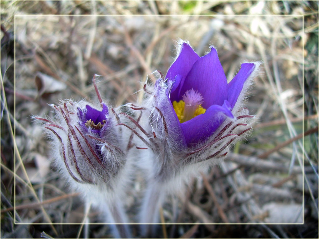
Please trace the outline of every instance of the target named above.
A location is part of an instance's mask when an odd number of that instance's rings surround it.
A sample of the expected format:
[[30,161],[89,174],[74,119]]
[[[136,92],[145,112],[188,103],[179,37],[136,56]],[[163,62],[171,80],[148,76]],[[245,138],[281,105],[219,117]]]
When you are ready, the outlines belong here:
[[149,181],[140,213],[140,223],[148,223],[140,225],[142,236],[155,236],[157,225],[149,223],[159,222],[159,207],[165,198],[165,191],[163,185],[154,180]]

